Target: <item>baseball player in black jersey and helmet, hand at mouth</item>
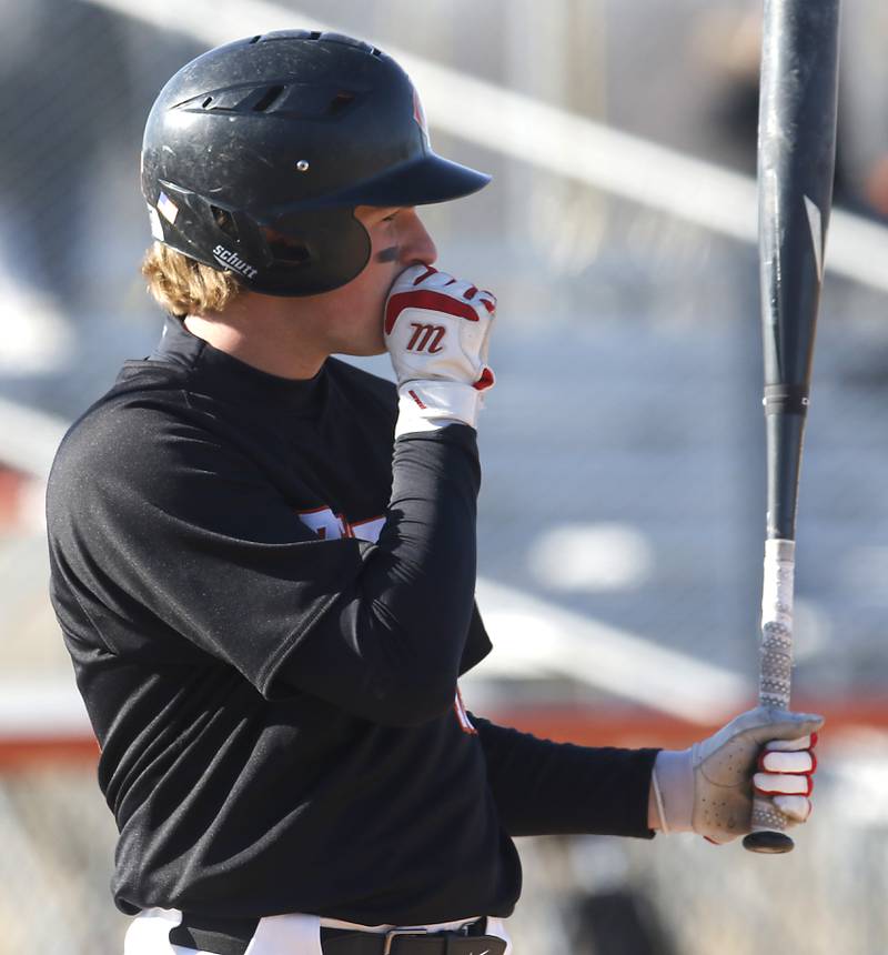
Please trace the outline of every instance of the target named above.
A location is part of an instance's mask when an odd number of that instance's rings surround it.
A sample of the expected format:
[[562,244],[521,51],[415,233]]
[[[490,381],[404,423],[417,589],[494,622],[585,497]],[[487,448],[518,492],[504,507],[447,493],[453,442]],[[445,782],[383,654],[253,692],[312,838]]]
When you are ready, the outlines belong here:
[[[513,837],[810,812],[820,718],[683,752],[496,726],[457,681],[496,300],[435,269],[436,155],[401,68],[335,33],[211,50],[161,91],[144,273],[169,312],[49,484],[52,600],[120,832],[127,955],[503,955]],[[397,384],[331,358],[389,352]],[[767,745],[766,745],[767,744]]]

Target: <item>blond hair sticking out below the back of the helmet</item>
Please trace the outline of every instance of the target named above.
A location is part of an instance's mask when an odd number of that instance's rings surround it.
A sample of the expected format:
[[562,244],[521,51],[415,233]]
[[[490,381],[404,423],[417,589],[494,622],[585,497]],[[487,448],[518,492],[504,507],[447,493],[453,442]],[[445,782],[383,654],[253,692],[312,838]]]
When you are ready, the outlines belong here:
[[161,242],[145,252],[142,274],[154,301],[179,318],[221,312],[243,291],[232,272],[211,269]]

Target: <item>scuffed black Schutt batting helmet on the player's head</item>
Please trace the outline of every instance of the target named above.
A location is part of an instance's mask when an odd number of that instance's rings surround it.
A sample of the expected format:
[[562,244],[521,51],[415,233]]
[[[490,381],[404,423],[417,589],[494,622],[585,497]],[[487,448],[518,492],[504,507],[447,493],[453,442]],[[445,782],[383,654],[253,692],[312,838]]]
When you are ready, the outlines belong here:
[[355,205],[467,195],[490,177],[436,155],[407,74],[340,33],[279,31],[210,50],[161,90],[142,192],[155,239],[271,295],[364,268]]

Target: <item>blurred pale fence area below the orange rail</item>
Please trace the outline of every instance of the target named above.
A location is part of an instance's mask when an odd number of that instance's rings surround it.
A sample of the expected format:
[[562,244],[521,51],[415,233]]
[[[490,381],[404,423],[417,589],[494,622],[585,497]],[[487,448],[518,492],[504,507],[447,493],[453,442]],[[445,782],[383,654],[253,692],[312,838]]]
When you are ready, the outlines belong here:
[[[516,955],[878,955],[888,744],[846,737],[826,755],[816,820],[788,856],[692,835],[518,840]],[[114,836],[92,762],[0,771],[0,955],[120,955]]]

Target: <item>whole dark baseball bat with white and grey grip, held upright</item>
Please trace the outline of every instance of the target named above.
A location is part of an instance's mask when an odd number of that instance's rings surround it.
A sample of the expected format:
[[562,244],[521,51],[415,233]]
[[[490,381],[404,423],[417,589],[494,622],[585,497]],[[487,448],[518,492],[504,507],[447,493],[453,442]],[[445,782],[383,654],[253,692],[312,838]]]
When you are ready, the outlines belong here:
[[[799,469],[836,157],[839,0],[765,0],[758,217],[767,525],[759,704],[789,708]],[[793,848],[756,795],[753,852]]]

